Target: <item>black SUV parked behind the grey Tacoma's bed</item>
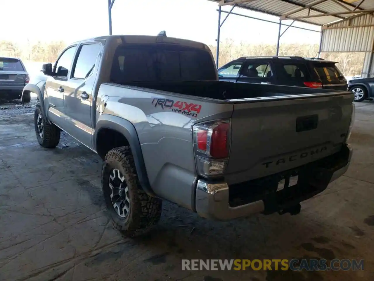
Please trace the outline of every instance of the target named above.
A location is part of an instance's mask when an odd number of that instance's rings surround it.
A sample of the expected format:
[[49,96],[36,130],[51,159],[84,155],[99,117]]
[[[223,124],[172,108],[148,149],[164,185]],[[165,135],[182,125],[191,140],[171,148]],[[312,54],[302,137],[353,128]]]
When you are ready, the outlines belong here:
[[321,58],[242,57],[218,69],[222,81],[347,90],[336,62]]

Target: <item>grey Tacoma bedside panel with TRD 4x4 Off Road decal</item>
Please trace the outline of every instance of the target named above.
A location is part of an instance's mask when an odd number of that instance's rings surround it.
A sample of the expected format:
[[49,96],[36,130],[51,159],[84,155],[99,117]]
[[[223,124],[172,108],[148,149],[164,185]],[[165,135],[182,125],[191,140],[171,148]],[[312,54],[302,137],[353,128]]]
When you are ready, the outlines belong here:
[[[230,118],[233,106],[218,100],[110,83],[101,85],[99,96],[102,95],[109,96],[102,114],[118,116],[134,124],[154,193],[194,209],[197,174],[192,126],[200,121]],[[162,106],[163,100],[168,100],[167,106]],[[174,106],[168,107],[177,101],[201,105],[201,110],[191,116]],[[96,115],[96,122],[100,116]]]

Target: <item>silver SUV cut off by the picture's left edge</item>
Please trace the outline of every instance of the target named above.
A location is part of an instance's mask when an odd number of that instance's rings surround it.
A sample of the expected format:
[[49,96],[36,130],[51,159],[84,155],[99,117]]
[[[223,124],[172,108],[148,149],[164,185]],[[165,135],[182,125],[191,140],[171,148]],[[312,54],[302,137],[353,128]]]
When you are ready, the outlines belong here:
[[[21,99],[22,90],[30,81],[26,68],[19,58],[0,57],[0,99]],[[24,102],[30,102],[30,93]]]

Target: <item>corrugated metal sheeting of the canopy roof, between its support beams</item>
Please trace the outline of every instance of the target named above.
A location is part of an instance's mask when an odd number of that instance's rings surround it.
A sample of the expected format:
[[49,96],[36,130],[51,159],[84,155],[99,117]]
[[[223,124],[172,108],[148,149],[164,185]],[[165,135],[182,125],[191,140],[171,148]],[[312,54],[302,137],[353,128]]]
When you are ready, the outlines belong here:
[[[215,2],[221,2],[221,0],[211,0]],[[282,16],[286,13],[297,11],[302,7],[312,4],[313,2],[318,3],[321,0],[252,0],[249,2],[237,4],[238,7],[254,10],[257,12],[263,12],[270,15]],[[361,0],[349,1],[347,3],[343,0],[337,0],[340,4],[337,4],[332,0],[325,0],[322,3],[316,4],[310,8],[310,15],[323,14],[323,13],[335,13],[335,12],[347,12],[348,9],[353,10],[354,6],[359,4]],[[226,3],[234,3],[237,0],[225,0]],[[344,8],[343,6],[346,8]],[[374,0],[365,0],[358,10],[360,9],[374,9]],[[292,16],[306,16],[308,14],[308,9],[304,9],[300,12],[293,13]],[[338,15],[338,16],[321,16],[315,18],[304,18],[300,21],[307,22],[316,25],[330,24],[339,19],[347,18],[352,15]]]

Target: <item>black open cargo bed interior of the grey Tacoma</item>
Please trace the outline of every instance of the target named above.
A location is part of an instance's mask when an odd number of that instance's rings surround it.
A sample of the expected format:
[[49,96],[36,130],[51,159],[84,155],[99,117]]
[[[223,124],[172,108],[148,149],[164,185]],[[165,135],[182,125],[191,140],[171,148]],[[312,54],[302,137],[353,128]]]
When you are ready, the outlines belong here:
[[219,100],[334,93],[325,89],[225,81],[131,82],[127,85]]

